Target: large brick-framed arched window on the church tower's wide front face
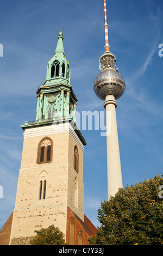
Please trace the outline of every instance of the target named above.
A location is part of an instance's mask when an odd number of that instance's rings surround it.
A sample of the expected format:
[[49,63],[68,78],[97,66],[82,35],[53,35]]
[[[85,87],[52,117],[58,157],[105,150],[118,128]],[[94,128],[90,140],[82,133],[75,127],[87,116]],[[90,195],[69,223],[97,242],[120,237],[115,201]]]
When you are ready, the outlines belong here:
[[50,138],[42,139],[38,145],[37,163],[52,162],[53,142]]

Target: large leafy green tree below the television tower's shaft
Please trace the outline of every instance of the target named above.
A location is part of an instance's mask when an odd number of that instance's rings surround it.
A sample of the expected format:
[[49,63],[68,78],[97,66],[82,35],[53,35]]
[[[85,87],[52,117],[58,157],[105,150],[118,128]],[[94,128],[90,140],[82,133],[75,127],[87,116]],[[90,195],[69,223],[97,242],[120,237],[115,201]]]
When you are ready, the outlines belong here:
[[[98,209],[97,236],[91,245],[163,245],[163,178],[120,188]],[[161,186],[161,187],[160,187]]]

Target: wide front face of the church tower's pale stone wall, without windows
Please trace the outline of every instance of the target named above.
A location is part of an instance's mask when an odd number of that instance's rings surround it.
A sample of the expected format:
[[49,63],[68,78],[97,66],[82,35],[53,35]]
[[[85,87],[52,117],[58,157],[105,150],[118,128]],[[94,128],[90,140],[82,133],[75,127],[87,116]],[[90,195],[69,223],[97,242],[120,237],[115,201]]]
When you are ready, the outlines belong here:
[[[24,138],[11,239],[34,236],[54,224],[66,236],[68,132],[48,135],[53,140],[51,163],[38,164],[37,147],[44,136]],[[47,181],[46,199],[39,200],[40,177]]]

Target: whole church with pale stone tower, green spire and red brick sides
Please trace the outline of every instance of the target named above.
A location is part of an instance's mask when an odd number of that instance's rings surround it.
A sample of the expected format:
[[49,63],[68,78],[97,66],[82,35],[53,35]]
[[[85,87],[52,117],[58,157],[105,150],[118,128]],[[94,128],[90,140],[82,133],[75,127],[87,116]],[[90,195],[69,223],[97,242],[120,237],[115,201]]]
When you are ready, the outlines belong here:
[[15,209],[0,231],[0,244],[30,245],[35,230],[52,224],[69,245],[86,245],[96,235],[84,215],[86,142],[76,127],[78,99],[70,84],[63,40],[60,29],[46,81],[36,92],[36,119],[21,126],[24,142]]

